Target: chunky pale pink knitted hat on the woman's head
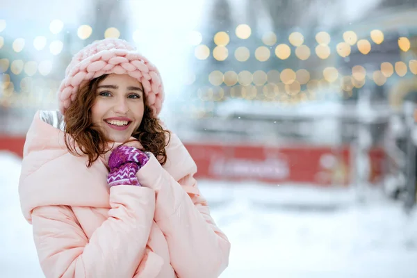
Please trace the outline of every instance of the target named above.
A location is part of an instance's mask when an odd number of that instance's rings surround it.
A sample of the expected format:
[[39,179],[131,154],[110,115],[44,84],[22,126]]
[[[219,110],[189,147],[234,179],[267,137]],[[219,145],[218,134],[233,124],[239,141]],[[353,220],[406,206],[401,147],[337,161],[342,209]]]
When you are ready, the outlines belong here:
[[164,93],[158,70],[131,44],[113,38],[93,42],[72,58],[58,89],[60,112],[65,113],[83,82],[103,74],[129,74],[138,79],[154,116],[161,112]]

